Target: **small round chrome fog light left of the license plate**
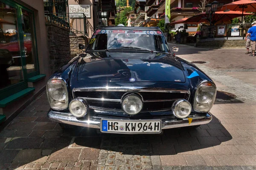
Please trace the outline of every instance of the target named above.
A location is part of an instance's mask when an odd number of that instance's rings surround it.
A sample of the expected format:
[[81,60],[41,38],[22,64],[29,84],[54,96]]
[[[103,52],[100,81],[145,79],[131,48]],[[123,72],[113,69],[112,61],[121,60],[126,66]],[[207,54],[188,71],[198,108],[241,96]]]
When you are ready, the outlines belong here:
[[70,113],[76,117],[82,117],[87,114],[87,103],[83,99],[73,99],[69,105]]

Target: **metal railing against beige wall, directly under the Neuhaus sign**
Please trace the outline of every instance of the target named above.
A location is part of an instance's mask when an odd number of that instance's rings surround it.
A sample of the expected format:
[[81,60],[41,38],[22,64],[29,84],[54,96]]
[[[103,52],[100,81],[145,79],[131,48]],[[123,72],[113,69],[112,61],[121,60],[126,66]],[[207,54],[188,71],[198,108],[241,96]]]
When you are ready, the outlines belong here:
[[69,13],[70,17],[70,33],[77,36],[88,34],[87,18],[84,13]]

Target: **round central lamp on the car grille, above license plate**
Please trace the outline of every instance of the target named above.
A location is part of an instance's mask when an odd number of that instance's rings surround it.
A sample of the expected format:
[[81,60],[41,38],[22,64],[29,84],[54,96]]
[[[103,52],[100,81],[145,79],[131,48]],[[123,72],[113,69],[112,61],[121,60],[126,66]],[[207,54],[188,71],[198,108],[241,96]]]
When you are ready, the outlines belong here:
[[130,94],[122,99],[122,110],[127,114],[137,114],[142,108],[142,99],[140,99],[136,94]]

